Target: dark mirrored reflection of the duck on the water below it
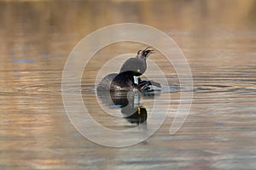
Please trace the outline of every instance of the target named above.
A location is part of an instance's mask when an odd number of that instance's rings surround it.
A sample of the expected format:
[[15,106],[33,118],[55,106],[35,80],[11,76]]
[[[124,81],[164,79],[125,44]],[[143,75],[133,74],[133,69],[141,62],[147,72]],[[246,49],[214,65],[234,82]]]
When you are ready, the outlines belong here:
[[142,94],[139,91],[98,91],[97,96],[102,100],[103,104],[119,107],[122,115],[128,122],[142,124],[148,118],[146,108],[140,103]]

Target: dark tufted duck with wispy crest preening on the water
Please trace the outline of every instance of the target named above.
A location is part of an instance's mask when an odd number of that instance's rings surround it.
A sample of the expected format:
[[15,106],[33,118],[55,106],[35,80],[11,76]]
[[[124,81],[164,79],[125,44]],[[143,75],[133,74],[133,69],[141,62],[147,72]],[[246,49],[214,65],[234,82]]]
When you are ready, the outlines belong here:
[[97,91],[130,91],[137,89],[138,91],[147,91],[150,85],[160,87],[160,83],[153,81],[143,81],[140,77],[147,70],[147,59],[150,54],[154,53],[151,47],[138,50],[137,55],[125,60],[121,66],[119,73],[111,73],[102,78],[97,85]]

